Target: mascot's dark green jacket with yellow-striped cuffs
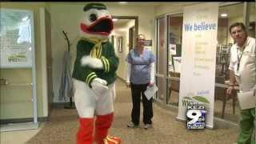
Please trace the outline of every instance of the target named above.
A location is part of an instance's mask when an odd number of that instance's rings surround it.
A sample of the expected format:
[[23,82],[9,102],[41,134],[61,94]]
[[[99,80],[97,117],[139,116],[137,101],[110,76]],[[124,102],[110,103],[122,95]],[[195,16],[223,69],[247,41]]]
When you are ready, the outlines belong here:
[[[102,60],[103,70],[82,66],[81,59],[83,56],[90,55],[94,43],[86,38],[79,40],[77,45],[77,58],[74,62],[73,78],[86,82],[88,86],[94,78],[102,78],[106,80],[107,85],[113,83],[116,79],[116,70],[118,69],[118,57],[114,53],[114,46],[109,42],[102,42],[102,54],[99,57]],[[91,87],[91,86],[90,86]]]

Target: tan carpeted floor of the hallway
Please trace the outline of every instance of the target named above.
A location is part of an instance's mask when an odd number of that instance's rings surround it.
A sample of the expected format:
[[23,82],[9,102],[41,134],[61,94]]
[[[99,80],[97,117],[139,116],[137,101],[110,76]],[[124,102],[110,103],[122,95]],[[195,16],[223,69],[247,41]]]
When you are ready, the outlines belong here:
[[[116,82],[117,98],[114,104],[115,118],[110,129],[110,135],[122,138],[123,144],[232,144],[238,137],[237,126],[214,125],[214,130],[186,130],[185,122],[175,118],[177,114],[165,110],[154,103],[153,127],[144,130],[141,126],[128,128],[130,121],[131,98],[130,89],[121,80]],[[142,118],[142,114],[141,114]],[[76,110],[55,108],[52,110],[50,121],[41,123],[40,131],[30,138],[27,144],[74,144],[78,130],[78,115]],[[27,133],[23,130],[20,133]],[[13,133],[12,139],[19,144],[22,137]],[[9,144],[9,143],[8,143]]]

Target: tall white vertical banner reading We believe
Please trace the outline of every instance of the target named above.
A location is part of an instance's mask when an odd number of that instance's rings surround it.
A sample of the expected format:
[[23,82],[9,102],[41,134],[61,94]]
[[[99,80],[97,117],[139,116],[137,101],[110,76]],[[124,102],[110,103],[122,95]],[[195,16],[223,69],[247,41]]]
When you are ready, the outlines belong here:
[[178,119],[186,120],[190,103],[205,106],[206,126],[213,128],[218,2],[185,6]]

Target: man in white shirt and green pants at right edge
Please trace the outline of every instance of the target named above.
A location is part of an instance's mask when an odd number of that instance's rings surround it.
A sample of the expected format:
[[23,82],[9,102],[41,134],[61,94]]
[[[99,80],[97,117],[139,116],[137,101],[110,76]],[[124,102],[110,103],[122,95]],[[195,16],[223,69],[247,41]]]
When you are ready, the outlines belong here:
[[[256,59],[255,38],[247,35],[246,26],[242,22],[235,22],[230,26],[230,34],[234,45],[230,49],[230,94],[237,82],[240,92],[256,88]],[[255,144],[255,107],[240,110],[240,134],[238,144]]]

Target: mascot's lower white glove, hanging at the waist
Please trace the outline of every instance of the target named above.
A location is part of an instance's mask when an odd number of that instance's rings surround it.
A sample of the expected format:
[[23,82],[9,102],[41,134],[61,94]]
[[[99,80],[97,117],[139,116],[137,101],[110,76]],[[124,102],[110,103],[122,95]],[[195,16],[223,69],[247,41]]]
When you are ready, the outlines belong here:
[[96,100],[99,96],[106,93],[109,88],[106,86],[107,82],[101,78],[94,78],[93,82],[91,82],[92,90],[94,94],[96,94]]

